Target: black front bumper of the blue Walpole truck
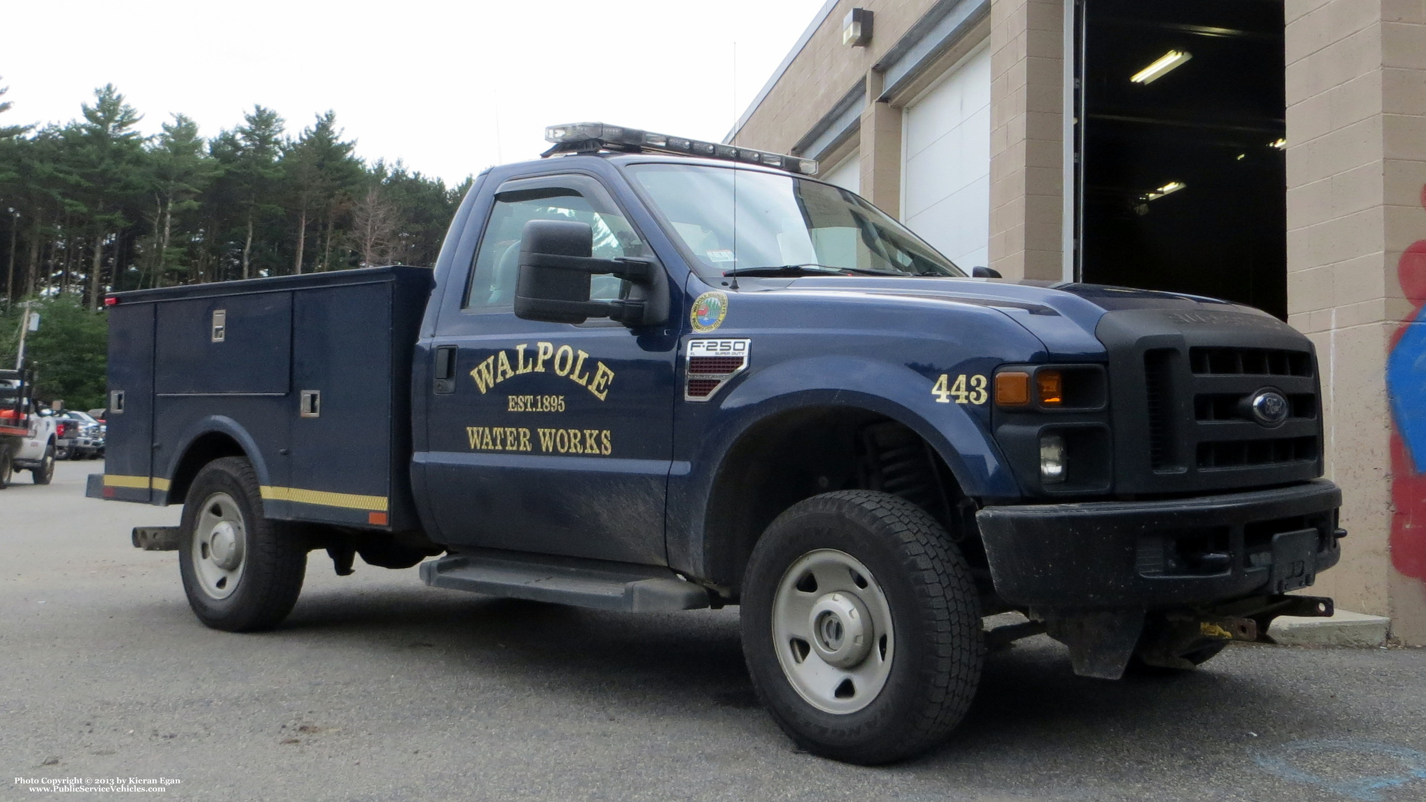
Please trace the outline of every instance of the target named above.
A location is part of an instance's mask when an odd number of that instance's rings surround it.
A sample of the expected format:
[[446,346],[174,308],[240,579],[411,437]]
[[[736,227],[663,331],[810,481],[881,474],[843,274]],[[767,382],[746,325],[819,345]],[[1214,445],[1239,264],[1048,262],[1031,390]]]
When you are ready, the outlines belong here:
[[995,591],[1040,608],[1196,606],[1283,594],[1342,555],[1326,479],[1166,501],[1028,504],[977,514]]

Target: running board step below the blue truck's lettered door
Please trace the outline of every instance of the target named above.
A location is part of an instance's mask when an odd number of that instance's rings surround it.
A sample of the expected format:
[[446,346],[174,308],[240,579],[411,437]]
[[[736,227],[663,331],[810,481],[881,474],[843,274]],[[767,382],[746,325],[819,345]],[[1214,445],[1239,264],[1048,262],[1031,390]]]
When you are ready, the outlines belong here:
[[472,549],[421,564],[434,588],[623,612],[673,612],[709,606],[702,585],[669,568],[600,559]]

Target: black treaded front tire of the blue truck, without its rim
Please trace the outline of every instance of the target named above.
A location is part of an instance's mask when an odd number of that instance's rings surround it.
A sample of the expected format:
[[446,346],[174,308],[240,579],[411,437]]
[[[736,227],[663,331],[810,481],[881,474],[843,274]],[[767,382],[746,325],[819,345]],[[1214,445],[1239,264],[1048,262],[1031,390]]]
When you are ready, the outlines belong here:
[[[864,564],[891,611],[886,685],[850,714],[809,704],[774,651],[777,588],[816,549]],[[980,618],[975,582],[945,529],[910,501],[876,491],[827,492],[790,507],[753,548],[742,589],[743,655],[763,706],[809,752],[863,765],[918,755],[960,724],[981,676]]]

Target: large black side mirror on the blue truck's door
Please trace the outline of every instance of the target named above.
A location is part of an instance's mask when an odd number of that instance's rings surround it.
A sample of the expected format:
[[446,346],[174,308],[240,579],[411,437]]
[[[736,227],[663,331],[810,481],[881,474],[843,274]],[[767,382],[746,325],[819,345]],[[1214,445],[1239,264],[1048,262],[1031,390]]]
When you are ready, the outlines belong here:
[[[520,233],[520,271],[515,317],[546,323],[585,323],[607,317],[625,325],[653,325],[669,315],[667,277],[636,258],[593,258],[595,233],[575,220],[530,220]],[[589,278],[612,274],[632,284],[627,297],[590,301]]]

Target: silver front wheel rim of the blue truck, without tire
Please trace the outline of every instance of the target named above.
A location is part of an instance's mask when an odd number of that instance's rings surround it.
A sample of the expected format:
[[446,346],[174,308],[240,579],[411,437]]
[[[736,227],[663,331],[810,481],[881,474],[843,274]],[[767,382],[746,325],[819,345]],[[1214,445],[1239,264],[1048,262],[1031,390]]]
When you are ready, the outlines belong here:
[[866,708],[887,684],[894,648],[891,604],[857,558],[820,548],[783,574],[773,649],[809,705],[838,715]]

